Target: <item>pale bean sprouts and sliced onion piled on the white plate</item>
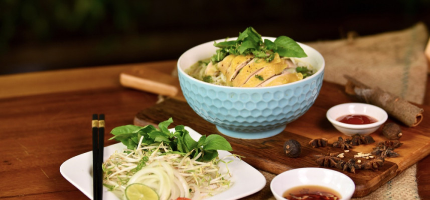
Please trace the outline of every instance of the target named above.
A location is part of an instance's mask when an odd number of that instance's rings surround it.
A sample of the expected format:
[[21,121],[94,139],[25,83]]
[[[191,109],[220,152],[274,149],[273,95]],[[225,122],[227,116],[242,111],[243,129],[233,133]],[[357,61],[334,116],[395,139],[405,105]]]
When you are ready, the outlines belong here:
[[[229,172],[221,173],[214,158],[208,162],[197,161],[201,153],[190,154],[171,151],[163,142],[158,145],[142,145],[135,150],[115,152],[103,163],[103,183],[118,197],[124,197],[127,185],[143,183],[152,187],[160,200],[187,197],[202,199],[220,193],[232,184]],[[234,156],[234,155],[233,155]]]

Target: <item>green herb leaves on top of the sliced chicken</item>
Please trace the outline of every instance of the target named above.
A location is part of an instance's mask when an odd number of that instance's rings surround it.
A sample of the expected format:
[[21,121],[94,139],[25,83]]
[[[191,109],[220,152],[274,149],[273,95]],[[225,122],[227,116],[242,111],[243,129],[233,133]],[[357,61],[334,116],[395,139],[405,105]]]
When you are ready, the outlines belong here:
[[214,42],[219,47],[216,54],[211,57],[212,62],[219,62],[229,54],[253,54],[255,57],[273,59],[274,53],[285,57],[308,56],[303,48],[288,36],[279,36],[274,41],[261,38],[261,35],[253,28],[247,27],[239,33],[236,40]]

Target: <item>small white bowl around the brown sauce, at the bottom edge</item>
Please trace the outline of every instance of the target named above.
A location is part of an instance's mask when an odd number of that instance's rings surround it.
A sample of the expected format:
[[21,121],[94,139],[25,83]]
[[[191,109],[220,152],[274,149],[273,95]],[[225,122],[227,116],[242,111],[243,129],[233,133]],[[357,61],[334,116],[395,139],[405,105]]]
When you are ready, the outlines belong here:
[[354,181],[339,171],[327,168],[305,167],[284,171],[270,182],[270,190],[277,200],[285,200],[282,194],[293,187],[319,185],[331,188],[341,195],[339,200],[351,199],[355,191]]

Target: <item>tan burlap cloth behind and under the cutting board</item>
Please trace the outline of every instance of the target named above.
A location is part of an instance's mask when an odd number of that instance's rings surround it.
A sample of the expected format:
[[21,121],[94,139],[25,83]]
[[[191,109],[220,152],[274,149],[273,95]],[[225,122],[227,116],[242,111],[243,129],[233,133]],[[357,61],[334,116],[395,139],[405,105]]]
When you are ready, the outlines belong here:
[[[348,74],[364,84],[378,86],[421,104],[427,81],[427,61],[424,56],[427,41],[427,28],[423,23],[417,23],[400,31],[362,37],[353,33],[346,39],[306,44],[324,56],[324,80],[345,84],[347,80],[343,75]],[[266,177],[267,184],[255,199],[275,199],[269,188],[275,175],[261,172]],[[369,195],[353,199],[420,199],[416,164]]]

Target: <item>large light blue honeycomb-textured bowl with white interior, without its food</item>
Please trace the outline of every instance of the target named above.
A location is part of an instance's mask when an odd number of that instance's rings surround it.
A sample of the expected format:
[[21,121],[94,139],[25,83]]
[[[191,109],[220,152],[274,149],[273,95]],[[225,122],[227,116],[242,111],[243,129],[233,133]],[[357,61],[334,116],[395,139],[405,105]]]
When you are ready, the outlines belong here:
[[314,48],[299,43],[308,54],[301,59],[318,68],[312,76],[269,87],[231,87],[195,79],[184,71],[198,60],[212,56],[217,49],[213,43],[206,42],[183,53],[178,60],[178,75],[188,104],[221,133],[242,139],[270,137],[284,130],[287,123],[298,119],[315,102],[323,82],[325,61]]

